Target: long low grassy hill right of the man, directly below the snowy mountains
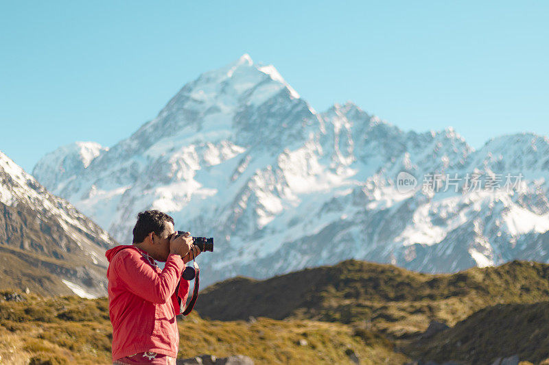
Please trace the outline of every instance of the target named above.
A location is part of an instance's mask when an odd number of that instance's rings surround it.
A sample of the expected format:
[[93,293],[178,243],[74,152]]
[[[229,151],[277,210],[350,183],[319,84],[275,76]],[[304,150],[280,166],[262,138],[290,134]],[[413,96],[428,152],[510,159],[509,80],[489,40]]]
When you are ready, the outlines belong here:
[[513,261],[455,274],[422,274],[349,260],[264,281],[235,278],[200,293],[196,310],[219,320],[266,316],[367,321],[390,336],[421,333],[431,320],[454,325],[494,303],[549,298],[549,265]]

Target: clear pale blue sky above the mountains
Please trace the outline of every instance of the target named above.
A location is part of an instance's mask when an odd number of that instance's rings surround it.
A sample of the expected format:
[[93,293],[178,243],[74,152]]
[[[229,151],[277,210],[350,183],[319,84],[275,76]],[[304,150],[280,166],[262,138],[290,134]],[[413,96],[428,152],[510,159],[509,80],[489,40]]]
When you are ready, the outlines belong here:
[[549,134],[548,1],[1,1],[0,150],[112,146],[249,53],[316,110],[354,101],[475,148]]

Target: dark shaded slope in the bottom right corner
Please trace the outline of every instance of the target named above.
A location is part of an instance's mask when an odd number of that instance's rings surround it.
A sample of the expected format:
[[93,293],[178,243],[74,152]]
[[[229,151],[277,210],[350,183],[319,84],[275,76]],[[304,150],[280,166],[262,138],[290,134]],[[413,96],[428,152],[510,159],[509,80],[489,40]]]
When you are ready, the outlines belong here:
[[539,364],[549,357],[549,302],[489,306],[406,349],[424,361],[492,364],[518,355]]

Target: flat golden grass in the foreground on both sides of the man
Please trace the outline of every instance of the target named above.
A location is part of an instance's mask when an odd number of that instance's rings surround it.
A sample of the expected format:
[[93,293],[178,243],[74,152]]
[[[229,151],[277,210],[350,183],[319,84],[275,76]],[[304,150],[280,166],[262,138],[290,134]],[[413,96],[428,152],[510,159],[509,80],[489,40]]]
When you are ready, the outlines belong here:
[[[107,299],[0,292],[0,363],[110,364],[112,330]],[[178,357],[237,353],[257,364],[401,364],[407,357],[376,333],[340,323],[257,318],[222,322],[191,314],[179,320]]]

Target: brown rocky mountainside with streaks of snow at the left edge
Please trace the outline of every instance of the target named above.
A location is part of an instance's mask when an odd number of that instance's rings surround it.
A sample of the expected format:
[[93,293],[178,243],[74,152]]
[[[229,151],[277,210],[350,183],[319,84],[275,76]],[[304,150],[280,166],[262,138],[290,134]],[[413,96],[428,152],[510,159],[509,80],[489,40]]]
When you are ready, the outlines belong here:
[[[85,157],[85,155],[83,156]],[[43,294],[106,295],[106,231],[0,152],[2,286]]]

